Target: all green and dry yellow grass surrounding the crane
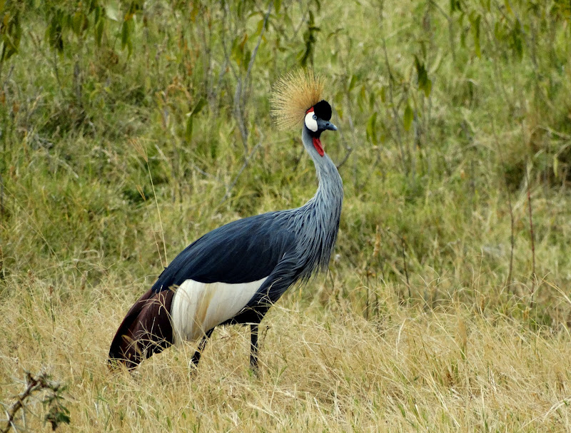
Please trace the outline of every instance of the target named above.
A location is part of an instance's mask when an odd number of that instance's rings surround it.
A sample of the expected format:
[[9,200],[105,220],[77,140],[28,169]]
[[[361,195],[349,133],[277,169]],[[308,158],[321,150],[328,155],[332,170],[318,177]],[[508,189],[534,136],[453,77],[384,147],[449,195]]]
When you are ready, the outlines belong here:
[[[2,402],[47,368],[69,386],[61,429],[568,429],[567,2],[3,8]],[[110,375],[164,257],[315,192],[269,116],[302,64],[340,129],[329,274],[265,320],[259,380],[238,328],[196,378],[186,346]]]

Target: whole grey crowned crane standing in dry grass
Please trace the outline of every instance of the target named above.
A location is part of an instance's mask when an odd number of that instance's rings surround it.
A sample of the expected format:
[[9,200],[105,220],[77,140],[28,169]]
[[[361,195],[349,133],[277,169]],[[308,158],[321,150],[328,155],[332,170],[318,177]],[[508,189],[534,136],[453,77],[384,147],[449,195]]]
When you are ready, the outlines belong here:
[[188,245],[127,312],[111,342],[111,366],[131,370],[172,344],[200,340],[196,366],[216,326],[243,324],[251,327],[250,365],[257,372],[264,315],[288,287],[327,268],[337,239],[343,182],[320,141],[323,131],[337,130],[322,91],[313,73],[290,73],[272,98],[278,127],[303,122],[317,193],[300,208],[233,221]]

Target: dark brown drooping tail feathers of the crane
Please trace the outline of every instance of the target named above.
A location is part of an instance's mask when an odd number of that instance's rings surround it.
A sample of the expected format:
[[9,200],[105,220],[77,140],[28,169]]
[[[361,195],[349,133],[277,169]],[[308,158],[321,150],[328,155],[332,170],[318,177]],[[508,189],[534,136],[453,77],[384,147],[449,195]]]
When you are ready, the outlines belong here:
[[108,360],[111,367],[122,363],[133,370],[153,353],[173,344],[173,295],[172,290],[159,293],[149,290],[135,302],[111,342]]

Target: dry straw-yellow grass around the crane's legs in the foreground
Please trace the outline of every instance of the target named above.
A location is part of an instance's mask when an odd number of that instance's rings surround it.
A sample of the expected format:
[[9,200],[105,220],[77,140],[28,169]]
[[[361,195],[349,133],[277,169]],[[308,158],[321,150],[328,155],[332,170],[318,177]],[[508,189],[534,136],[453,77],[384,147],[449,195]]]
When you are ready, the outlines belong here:
[[[248,371],[242,327],[215,333],[196,377],[190,345],[152,357],[134,375],[112,374],[108,342],[129,304],[116,293],[110,276],[96,290],[65,296],[30,282],[5,299],[3,400],[18,392],[23,369],[45,367],[69,385],[72,422],[61,431],[570,428],[566,327],[532,331],[453,302],[404,307],[387,293],[380,319],[365,321],[334,302],[300,306],[293,292],[263,322],[259,378]],[[39,429],[41,406],[29,409],[36,417],[28,415],[28,427]]]

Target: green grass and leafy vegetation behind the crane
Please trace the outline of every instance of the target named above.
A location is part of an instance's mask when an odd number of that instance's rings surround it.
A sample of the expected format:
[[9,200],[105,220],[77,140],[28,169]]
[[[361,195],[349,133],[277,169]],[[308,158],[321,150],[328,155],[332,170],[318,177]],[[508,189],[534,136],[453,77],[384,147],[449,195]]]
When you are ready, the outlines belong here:
[[299,134],[268,113],[298,67],[340,127],[337,298],[533,306],[570,281],[566,1],[0,7],[4,295],[113,272],[132,297],[202,233],[308,200]]

